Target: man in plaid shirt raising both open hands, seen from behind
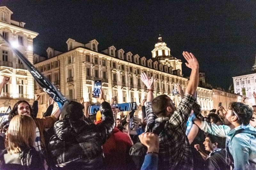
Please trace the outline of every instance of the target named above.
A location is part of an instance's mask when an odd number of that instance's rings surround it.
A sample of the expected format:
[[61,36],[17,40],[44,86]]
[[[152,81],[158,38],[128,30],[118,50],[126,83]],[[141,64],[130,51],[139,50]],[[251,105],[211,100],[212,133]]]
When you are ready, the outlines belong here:
[[141,80],[148,88],[146,106],[147,128],[158,134],[159,162],[158,169],[193,169],[193,160],[186,132],[186,122],[191,112],[198,85],[199,64],[192,53],[183,52],[187,60],[186,66],[191,68],[189,83],[185,94],[176,109],[175,104],[167,95],[153,99],[154,79],[148,79],[145,73]]

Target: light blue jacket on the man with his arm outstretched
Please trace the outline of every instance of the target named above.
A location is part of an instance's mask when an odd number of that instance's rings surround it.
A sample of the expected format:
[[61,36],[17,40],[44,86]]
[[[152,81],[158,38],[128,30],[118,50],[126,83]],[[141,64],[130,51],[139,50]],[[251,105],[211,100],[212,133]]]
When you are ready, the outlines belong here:
[[200,129],[212,135],[226,138],[226,147],[234,159],[234,170],[256,169],[255,136],[249,133],[238,133],[230,143],[231,136],[240,129],[256,131],[250,124],[242,124],[231,130],[227,125],[211,125],[202,121]]

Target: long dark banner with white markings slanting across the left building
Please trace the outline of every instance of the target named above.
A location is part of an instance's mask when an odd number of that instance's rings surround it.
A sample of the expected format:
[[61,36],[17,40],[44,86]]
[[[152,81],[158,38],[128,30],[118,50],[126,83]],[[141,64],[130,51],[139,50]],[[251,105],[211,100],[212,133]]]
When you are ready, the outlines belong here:
[[29,61],[28,59],[20,53],[19,50],[13,48],[10,42],[4,39],[3,35],[0,34],[0,37],[5,41],[5,43],[12,49],[13,53],[16,54],[18,59],[23,63],[23,65],[28,69],[28,71],[32,74],[36,82],[39,86],[46,92],[55,102],[64,105],[64,103],[68,102],[68,100],[60,93],[60,91],[52,85],[48,79],[44,77]]

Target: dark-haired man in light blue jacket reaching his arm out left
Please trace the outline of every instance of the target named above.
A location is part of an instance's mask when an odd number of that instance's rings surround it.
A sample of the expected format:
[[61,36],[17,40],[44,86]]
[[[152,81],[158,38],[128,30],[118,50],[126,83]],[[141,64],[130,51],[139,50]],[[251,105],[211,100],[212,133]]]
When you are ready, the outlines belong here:
[[[231,102],[225,115],[224,124],[210,124],[196,118],[195,124],[203,131],[219,137],[226,137],[229,164],[234,170],[256,169],[256,129],[249,123],[252,109],[244,103]],[[250,133],[242,132],[248,130]],[[240,133],[238,133],[240,131]],[[233,157],[233,158],[232,158]],[[232,163],[234,165],[232,165]]]

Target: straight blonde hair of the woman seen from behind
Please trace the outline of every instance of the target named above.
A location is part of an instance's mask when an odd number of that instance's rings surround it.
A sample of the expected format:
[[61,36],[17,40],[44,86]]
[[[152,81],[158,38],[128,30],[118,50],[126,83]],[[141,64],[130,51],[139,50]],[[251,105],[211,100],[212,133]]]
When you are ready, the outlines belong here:
[[16,115],[12,118],[8,131],[7,152],[18,153],[24,148],[31,148],[35,143],[36,123],[27,115]]

